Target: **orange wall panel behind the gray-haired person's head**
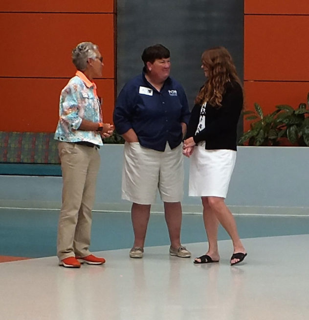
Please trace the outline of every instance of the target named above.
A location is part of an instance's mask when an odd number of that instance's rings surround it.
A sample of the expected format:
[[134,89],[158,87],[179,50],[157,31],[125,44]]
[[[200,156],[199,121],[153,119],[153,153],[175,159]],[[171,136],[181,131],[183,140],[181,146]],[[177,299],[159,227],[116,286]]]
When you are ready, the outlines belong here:
[[114,78],[113,14],[0,13],[0,30],[0,77],[70,77],[71,50],[92,41],[104,57],[103,77]]

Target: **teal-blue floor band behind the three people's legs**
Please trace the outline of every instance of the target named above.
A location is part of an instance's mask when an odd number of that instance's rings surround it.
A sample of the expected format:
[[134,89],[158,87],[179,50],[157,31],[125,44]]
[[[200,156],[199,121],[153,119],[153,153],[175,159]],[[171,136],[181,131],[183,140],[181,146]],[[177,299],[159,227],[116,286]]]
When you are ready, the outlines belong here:
[[[56,255],[59,211],[0,209],[0,255],[39,258]],[[309,234],[309,217],[236,217],[241,238]],[[229,239],[220,227],[219,240]],[[93,213],[91,251],[130,248],[130,213]],[[206,241],[201,215],[183,215],[182,243]],[[145,246],[169,244],[162,214],[152,214]],[[206,245],[205,245],[206,250]]]

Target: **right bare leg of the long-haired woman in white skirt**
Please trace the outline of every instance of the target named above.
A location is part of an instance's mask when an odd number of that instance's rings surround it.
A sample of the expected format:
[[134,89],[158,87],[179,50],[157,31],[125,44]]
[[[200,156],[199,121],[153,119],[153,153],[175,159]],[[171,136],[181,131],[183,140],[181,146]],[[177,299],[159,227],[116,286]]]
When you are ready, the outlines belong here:
[[[228,209],[226,204],[224,203],[224,198],[220,197],[207,197],[208,198],[208,204],[212,211],[216,214],[217,219],[223,226],[223,228],[227,231],[229,236],[232,239],[233,246],[234,246],[234,253],[237,252],[243,252],[246,253],[242,241],[239,238],[237,226],[235,219],[231,213],[231,211]],[[231,262],[237,262],[239,259],[232,260]]]

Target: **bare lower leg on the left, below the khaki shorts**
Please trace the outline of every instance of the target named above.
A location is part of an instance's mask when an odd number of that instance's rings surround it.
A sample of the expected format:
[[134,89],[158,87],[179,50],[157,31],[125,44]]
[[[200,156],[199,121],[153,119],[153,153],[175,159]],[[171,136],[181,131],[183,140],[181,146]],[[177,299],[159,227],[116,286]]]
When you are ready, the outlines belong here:
[[134,231],[133,247],[144,248],[146,231],[150,216],[150,204],[132,203],[131,219]]

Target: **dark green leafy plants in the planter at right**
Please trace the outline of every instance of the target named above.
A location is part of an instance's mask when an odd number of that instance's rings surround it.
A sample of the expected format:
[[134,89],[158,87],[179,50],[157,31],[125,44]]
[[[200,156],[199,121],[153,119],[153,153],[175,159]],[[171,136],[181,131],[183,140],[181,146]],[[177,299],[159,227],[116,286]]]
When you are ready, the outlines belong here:
[[[309,105],[309,93],[307,96]],[[254,103],[254,111],[245,111],[245,120],[256,120],[250,123],[250,130],[245,132],[239,144],[256,146],[280,145],[287,139],[292,145],[309,146],[309,109],[306,103],[300,103],[293,109],[290,105],[277,105],[276,110],[264,116],[258,103]]]

